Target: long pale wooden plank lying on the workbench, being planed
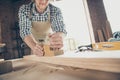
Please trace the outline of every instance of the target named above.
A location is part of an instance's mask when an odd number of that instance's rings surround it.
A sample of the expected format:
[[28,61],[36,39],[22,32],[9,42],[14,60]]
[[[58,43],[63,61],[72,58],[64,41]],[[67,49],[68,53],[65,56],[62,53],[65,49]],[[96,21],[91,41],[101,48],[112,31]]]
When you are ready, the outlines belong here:
[[30,55],[25,56],[24,59],[84,69],[120,73],[119,58],[65,58],[37,57],[36,55]]

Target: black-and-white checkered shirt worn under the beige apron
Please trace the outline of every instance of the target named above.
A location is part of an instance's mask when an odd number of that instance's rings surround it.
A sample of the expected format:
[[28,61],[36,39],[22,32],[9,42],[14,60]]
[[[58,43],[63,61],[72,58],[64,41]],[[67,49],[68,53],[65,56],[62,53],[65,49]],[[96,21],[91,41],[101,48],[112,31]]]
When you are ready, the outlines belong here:
[[32,21],[47,21],[50,14],[51,28],[54,32],[67,33],[65,30],[65,24],[59,8],[49,4],[44,13],[40,14],[36,11],[35,3],[22,5],[19,8],[19,27],[20,36],[24,39],[25,36],[31,34]]

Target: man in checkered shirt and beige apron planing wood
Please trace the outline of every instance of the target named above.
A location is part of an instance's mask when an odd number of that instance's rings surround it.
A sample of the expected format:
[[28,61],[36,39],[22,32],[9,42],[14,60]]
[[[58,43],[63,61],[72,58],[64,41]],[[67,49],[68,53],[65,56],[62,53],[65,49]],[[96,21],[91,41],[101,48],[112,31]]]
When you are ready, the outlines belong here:
[[[53,49],[63,47],[65,24],[59,8],[49,3],[50,0],[33,0],[19,9],[20,36],[38,56],[43,56],[42,41]],[[52,28],[53,33],[50,32]]]

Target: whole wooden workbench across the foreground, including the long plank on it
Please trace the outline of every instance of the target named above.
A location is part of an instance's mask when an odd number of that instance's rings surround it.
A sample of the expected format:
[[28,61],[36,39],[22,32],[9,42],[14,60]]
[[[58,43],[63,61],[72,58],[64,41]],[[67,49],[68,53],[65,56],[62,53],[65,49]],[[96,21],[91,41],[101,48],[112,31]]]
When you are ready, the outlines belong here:
[[0,80],[120,80],[119,51],[30,55],[11,61],[13,71],[0,75]]

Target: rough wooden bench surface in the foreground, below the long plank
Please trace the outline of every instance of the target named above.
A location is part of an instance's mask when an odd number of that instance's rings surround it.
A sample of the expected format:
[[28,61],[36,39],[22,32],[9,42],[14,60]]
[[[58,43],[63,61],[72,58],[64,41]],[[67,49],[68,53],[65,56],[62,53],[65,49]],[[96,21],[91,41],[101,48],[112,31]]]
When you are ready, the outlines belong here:
[[119,73],[53,65],[37,61],[13,60],[14,71],[0,80],[119,80]]

